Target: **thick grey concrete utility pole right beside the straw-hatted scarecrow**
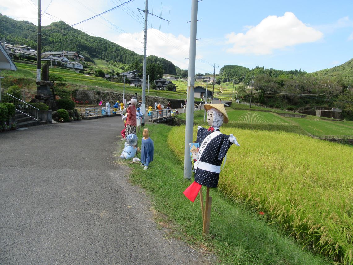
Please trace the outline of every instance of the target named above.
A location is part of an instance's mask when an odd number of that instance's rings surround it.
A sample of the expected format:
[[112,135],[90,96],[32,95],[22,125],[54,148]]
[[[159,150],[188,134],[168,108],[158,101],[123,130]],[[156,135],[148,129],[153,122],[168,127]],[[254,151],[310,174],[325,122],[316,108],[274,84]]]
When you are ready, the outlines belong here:
[[185,150],[184,150],[184,178],[191,178],[190,147],[192,143],[193,131],[193,104],[195,93],[195,61],[196,61],[196,31],[197,31],[197,4],[198,0],[191,1],[191,22],[190,22],[190,41],[189,41],[189,71],[187,77],[187,108],[185,125]]

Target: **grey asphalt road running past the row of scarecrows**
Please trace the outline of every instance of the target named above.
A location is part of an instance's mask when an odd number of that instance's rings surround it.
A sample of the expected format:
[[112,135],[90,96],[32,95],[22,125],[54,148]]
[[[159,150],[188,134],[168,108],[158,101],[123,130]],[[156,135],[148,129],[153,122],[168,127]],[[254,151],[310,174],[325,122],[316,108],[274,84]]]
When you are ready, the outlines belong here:
[[156,229],[113,163],[122,128],[109,117],[0,133],[0,264],[208,264]]

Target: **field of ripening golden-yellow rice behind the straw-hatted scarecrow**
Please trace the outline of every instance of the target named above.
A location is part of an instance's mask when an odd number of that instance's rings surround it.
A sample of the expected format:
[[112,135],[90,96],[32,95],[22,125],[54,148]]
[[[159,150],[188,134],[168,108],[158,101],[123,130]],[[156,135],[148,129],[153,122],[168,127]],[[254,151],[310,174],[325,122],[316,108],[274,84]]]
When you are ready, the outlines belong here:
[[[352,264],[353,148],[278,131],[221,132],[233,133],[240,147],[229,149],[218,188],[265,212],[306,248]],[[194,140],[196,133],[195,127]],[[168,139],[182,161],[184,135],[180,126]]]

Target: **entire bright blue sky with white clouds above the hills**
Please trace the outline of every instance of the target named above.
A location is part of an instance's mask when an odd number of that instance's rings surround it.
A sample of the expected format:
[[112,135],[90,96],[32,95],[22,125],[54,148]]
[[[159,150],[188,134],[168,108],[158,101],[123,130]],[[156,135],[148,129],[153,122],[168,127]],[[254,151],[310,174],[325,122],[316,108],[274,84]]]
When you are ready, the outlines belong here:
[[[128,0],[42,0],[42,25],[72,25]],[[97,6],[97,4],[99,5]],[[0,13],[37,25],[36,0],[2,0]],[[145,2],[133,0],[75,28],[143,54]],[[187,69],[191,0],[149,0],[147,55]],[[44,12],[45,11],[45,12]],[[198,2],[196,73],[216,73],[224,65],[307,72],[328,69],[353,58],[353,1]]]

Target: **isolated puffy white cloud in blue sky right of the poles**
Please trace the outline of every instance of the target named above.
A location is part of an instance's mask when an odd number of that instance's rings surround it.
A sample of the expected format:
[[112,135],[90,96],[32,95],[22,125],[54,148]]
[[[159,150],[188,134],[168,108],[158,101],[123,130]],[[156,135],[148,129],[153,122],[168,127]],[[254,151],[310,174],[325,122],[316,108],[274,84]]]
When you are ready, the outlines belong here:
[[315,42],[323,34],[305,25],[292,12],[283,17],[268,16],[245,34],[234,32],[227,34],[228,44],[233,44],[227,52],[237,54],[271,54],[275,49]]

